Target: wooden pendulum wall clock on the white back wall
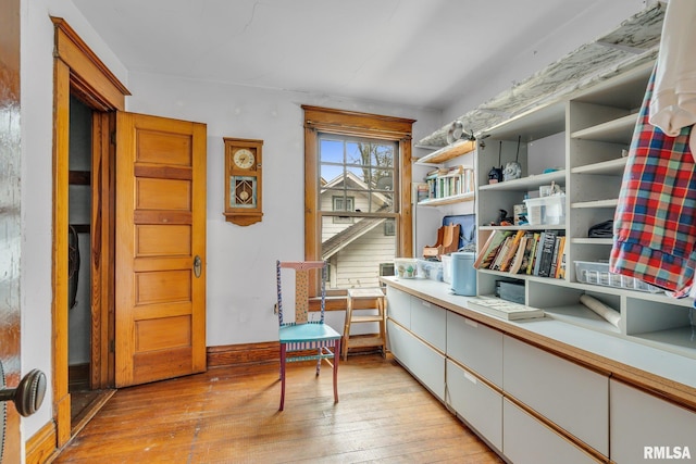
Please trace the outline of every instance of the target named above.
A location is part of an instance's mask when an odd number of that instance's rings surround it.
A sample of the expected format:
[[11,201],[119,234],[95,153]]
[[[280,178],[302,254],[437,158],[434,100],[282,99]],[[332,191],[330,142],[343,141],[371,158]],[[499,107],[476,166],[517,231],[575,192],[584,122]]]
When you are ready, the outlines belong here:
[[240,226],[261,221],[261,156],[263,140],[224,137],[225,220]]

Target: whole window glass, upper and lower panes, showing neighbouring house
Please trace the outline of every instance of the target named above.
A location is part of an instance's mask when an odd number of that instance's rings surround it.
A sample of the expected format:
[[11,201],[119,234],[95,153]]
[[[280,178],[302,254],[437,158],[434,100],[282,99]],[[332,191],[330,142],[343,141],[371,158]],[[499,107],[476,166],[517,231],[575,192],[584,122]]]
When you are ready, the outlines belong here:
[[398,143],[336,134],[319,140],[322,259],[330,264],[330,288],[376,287],[381,269],[390,275],[398,243]]

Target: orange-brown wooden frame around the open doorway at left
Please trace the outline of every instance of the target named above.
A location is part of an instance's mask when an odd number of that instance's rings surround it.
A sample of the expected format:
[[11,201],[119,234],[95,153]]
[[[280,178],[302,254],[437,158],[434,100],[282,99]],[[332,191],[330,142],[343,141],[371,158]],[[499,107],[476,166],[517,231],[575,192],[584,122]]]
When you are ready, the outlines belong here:
[[[53,316],[53,411],[57,448],[72,434],[67,358],[67,236],[70,97],[95,111],[92,117],[91,173],[91,388],[113,385],[114,311],[114,155],[111,134],[115,111],[125,109],[130,92],[109,71],[70,25],[51,17],[54,25],[53,60],[53,237],[51,312]],[[111,321],[111,322],[110,322]],[[95,324],[96,323],[96,324]]]

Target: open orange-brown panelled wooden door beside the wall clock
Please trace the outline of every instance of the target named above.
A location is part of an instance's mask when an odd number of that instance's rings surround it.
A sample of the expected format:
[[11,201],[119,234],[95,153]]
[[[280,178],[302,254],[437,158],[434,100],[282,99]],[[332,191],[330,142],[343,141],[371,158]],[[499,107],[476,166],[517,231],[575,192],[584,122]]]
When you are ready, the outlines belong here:
[[116,387],[206,371],[206,143],[116,114]]

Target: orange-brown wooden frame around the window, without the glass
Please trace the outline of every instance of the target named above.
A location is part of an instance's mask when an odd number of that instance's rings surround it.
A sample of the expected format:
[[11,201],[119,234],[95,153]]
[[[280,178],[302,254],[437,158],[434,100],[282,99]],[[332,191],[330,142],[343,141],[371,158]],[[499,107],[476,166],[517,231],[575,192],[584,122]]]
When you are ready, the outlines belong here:
[[[321,260],[321,211],[319,205],[319,134],[366,137],[398,142],[398,209],[395,211],[399,230],[397,255],[411,258],[413,253],[411,205],[411,140],[415,120],[384,116],[355,111],[301,105],[304,111],[304,259]],[[396,166],[395,166],[396,167]],[[319,294],[315,278],[313,296]],[[346,290],[333,290],[331,296],[345,296]],[[327,309],[345,309],[345,300]]]

